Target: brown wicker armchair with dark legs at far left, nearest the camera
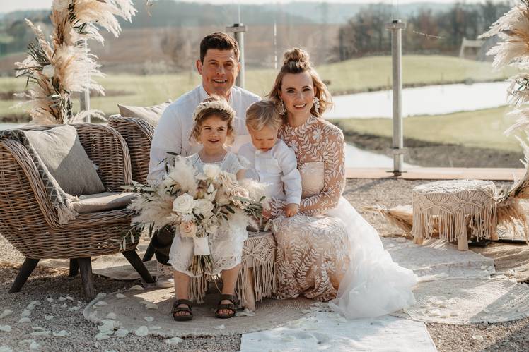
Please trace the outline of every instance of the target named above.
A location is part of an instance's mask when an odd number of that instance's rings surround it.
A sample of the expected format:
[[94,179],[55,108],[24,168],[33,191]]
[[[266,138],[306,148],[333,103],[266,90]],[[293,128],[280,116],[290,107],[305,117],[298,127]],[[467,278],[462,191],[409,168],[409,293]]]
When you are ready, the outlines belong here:
[[[117,191],[131,183],[129,152],[117,131],[93,124],[73,126],[88,157],[99,166],[105,188]],[[28,151],[14,140],[0,140],[0,232],[25,256],[9,292],[22,289],[40,259],[65,258],[70,259],[70,276],[80,271],[85,295],[93,298],[91,257],[120,252],[120,240],[130,224],[126,209],[81,213],[68,224],[59,224]],[[153,282],[134,250],[136,244],[127,243],[122,254],[145,281]]]

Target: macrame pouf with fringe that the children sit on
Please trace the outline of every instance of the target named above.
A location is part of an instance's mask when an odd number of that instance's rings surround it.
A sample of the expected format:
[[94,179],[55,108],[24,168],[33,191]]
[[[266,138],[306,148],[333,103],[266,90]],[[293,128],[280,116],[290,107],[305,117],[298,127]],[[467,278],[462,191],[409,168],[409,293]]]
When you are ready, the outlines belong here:
[[[248,232],[236,285],[240,307],[253,311],[255,301],[276,291],[275,260],[276,241],[272,232]],[[191,279],[190,299],[202,303],[211,279],[207,276]]]

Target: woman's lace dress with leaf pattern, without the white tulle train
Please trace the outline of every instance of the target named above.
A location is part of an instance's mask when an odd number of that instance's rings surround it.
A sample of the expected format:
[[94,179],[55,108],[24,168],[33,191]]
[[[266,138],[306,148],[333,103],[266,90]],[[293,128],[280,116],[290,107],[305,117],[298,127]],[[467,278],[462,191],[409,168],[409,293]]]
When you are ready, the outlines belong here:
[[284,203],[272,203],[277,241],[279,298],[328,301],[336,297],[349,265],[349,240],[340,219],[325,217],[345,183],[342,131],[311,116],[298,127],[283,126],[280,137],[296,152],[303,195],[300,214],[284,217]]

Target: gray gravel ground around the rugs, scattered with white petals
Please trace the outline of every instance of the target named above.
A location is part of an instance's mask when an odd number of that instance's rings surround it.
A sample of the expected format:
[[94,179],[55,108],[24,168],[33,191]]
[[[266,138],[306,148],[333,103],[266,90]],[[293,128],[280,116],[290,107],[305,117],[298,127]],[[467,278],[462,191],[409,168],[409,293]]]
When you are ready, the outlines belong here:
[[[424,181],[404,180],[349,180],[344,196],[366,219],[376,226],[383,236],[400,235],[400,231],[376,216],[365,213],[361,207],[366,205],[411,204],[412,188]],[[499,183],[504,186],[506,183]],[[37,266],[35,272],[26,282],[20,293],[7,293],[9,286],[18,272],[23,257],[0,235],[0,314],[4,310],[13,310],[13,315],[0,320],[1,325],[11,325],[12,332],[0,331],[0,346],[8,345],[13,351],[29,350],[25,339],[34,339],[43,351],[165,351],[168,349],[161,338],[136,337],[127,335],[96,341],[97,327],[83,318],[82,308],[86,305],[81,289],[81,279],[69,278],[64,270],[48,269]],[[111,293],[129,288],[139,281],[123,282],[94,277],[97,292]],[[73,301],[59,301],[59,297],[70,296]],[[50,303],[47,298],[53,298]],[[31,312],[31,322],[17,324],[21,312],[31,301],[40,301]],[[59,303],[56,307],[52,304]],[[66,307],[61,307],[66,303]],[[81,309],[69,312],[68,308],[80,306]],[[45,320],[45,315],[53,315],[52,320]],[[68,336],[30,336],[32,327],[43,327],[50,332],[66,330]],[[529,319],[501,324],[448,325],[427,324],[438,351],[528,351]],[[240,346],[240,335],[224,337],[200,337],[184,339],[171,349],[178,351],[236,351]]]

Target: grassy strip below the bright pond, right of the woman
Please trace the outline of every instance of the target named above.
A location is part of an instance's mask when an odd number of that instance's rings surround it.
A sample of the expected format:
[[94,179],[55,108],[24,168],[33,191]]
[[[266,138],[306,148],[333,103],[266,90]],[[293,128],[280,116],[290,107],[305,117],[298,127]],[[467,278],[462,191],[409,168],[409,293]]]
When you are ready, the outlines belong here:
[[[404,119],[405,138],[465,147],[520,152],[518,140],[504,135],[515,118],[505,116],[508,108],[484,109],[438,116],[412,116]],[[393,136],[392,119],[332,120],[344,133]]]

